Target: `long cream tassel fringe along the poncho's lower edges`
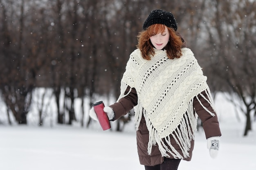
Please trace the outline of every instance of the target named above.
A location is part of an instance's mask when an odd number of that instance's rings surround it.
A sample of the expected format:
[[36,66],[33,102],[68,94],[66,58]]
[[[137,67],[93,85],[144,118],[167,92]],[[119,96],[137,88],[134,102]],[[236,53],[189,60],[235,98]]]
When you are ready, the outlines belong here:
[[[183,57],[183,56],[182,56]],[[126,67],[128,69],[128,67]],[[136,70],[137,71],[137,70]],[[137,81],[137,80],[133,80]],[[128,86],[134,87],[135,85],[132,83],[126,83],[129,82],[127,81],[127,78],[122,79],[121,81],[121,94],[118,98],[117,101],[119,101],[120,98],[123,98],[127,96],[130,91],[125,94],[126,89]],[[202,85],[203,86],[203,85]],[[141,121],[142,114],[145,117],[146,120],[146,126],[149,131],[149,140],[148,140],[148,154],[151,153],[152,147],[154,145],[158,145],[159,151],[161,152],[163,157],[170,157],[172,155],[175,159],[183,159],[189,157],[189,149],[191,148],[191,140],[194,139],[194,133],[196,132],[196,126],[197,126],[197,118],[196,115],[194,114],[194,108],[193,108],[193,99],[194,97],[197,98],[198,102],[204,110],[206,110],[211,116],[215,116],[214,113],[212,113],[210,110],[205,107],[202,102],[199,100],[198,95],[202,96],[214,109],[214,103],[213,103],[213,98],[211,96],[211,92],[209,90],[209,87],[204,84],[204,90],[202,90],[200,93],[194,95],[190,101],[188,102],[187,105],[184,107],[186,108],[185,112],[181,113],[182,118],[180,120],[180,123],[177,125],[175,130],[173,130],[170,134],[163,136],[162,134],[159,134],[157,129],[154,127],[152,121],[150,120],[150,113],[147,112],[147,110],[143,107],[143,104],[141,103],[141,98],[138,95],[138,104],[135,106],[135,126],[136,129],[138,130],[139,128],[139,123]],[[136,89],[136,87],[135,87]],[[137,90],[137,89],[136,89]],[[208,99],[202,95],[202,92],[206,92]],[[189,126],[190,125],[190,126]],[[171,137],[175,139],[175,142],[179,145],[180,149],[182,150],[181,155],[171,144]]]

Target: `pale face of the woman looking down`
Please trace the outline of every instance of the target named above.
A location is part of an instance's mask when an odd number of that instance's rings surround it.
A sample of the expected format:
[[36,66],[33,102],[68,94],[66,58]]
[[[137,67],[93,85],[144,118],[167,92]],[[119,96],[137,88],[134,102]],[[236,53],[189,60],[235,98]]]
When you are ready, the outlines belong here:
[[163,49],[169,41],[170,33],[165,26],[163,33],[155,34],[150,37],[150,41],[156,49]]

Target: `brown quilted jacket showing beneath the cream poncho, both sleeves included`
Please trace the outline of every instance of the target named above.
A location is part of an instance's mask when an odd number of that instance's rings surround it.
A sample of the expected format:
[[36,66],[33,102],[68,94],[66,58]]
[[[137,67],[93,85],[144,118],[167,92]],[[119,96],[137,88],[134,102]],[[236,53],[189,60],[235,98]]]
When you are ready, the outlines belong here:
[[[126,89],[126,93],[128,93],[129,89],[130,87]],[[207,95],[205,94],[205,92],[202,92],[202,94],[207,98]],[[198,95],[198,98],[200,99],[202,104],[208,108],[208,110],[214,113],[210,104],[204,98],[202,98],[202,96]],[[137,105],[137,93],[136,93],[136,90],[132,88],[132,91],[130,92],[130,94],[128,94],[124,98],[121,98],[119,102],[113,105],[110,105],[110,107],[112,107],[115,113],[115,118],[112,121],[115,121],[119,119],[121,116],[124,116],[125,114],[127,114],[135,105]],[[206,110],[204,110],[204,108],[196,98],[194,98],[193,107],[195,109],[195,112],[198,114],[199,118],[202,121],[206,139],[212,136],[221,136],[217,115],[215,114],[216,116],[214,117],[211,116]],[[153,146],[151,154],[148,155],[147,153],[148,136],[149,135],[148,135],[148,129],[146,127],[146,121],[144,119],[144,116],[142,116],[140,125],[139,125],[139,130],[137,130],[136,132],[139,161],[142,165],[146,165],[146,166],[155,166],[157,164],[163,163],[164,157],[162,157],[160,151],[158,150],[157,145]],[[182,155],[182,151],[180,150],[179,145],[175,142],[172,136],[170,137],[171,137],[171,144]],[[194,148],[194,141],[192,140],[191,148],[189,150],[189,157],[184,158],[184,160],[186,161],[191,160],[193,148]],[[170,157],[170,158],[173,159],[173,157]]]

